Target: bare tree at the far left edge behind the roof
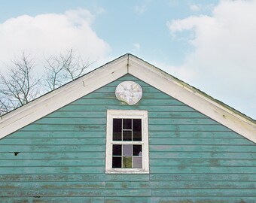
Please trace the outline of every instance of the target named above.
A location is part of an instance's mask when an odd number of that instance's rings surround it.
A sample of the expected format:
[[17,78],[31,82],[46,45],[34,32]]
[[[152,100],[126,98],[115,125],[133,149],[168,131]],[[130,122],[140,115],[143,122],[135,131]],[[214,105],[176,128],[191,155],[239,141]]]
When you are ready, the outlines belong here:
[[0,74],[0,115],[35,99],[39,94],[39,79],[32,77],[33,59],[22,54],[12,62],[7,74]]

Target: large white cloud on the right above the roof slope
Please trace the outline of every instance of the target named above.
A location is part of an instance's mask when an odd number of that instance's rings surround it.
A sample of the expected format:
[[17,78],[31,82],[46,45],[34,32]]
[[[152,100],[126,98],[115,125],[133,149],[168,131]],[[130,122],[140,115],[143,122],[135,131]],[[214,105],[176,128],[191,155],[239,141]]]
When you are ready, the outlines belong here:
[[[187,17],[168,23],[172,35],[194,32],[194,52],[183,69],[189,83],[234,108],[256,117],[256,1],[221,1],[212,17]],[[181,75],[182,77],[182,75]]]

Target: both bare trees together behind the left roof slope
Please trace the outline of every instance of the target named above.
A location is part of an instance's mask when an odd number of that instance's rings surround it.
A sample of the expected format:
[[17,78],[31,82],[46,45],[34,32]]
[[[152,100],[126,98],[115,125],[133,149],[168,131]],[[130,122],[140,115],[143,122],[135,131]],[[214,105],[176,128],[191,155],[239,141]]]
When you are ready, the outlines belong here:
[[0,73],[0,115],[37,98],[43,92],[42,84],[46,91],[56,89],[81,77],[91,64],[89,60],[84,61],[81,56],[75,56],[71,49],[65,54],[45,59],[46,72],[39,79],[32,73],[35,69],[34,60],[23,53],[20,59],[12,62],[8,73]]

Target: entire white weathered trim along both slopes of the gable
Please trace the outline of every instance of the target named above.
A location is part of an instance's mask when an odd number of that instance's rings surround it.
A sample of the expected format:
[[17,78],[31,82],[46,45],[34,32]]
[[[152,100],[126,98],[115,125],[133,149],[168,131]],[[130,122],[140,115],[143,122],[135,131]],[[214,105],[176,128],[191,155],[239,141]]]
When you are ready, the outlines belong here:
[[10,135],[23,126],[29,125],[29,123],[74,102],[76,99],[117,80],[117,78],[127,73],[138,77],[145,83],[160,89],[167,95],[178,99],[256,143],[256,123],[254,120],[243,117],[238,112],[219,104],[200,90],[183,83],[181,80],[131,54],[121,56],[89,74],[41,96],[41,98],[17,108],[9,114],[5,114],[0,119],[0,138]]

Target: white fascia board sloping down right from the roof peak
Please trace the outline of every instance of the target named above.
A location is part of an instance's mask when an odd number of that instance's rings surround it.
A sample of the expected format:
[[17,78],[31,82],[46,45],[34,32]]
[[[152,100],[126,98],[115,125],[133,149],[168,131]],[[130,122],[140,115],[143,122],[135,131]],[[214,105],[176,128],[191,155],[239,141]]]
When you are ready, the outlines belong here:
[[197,89],[175,80],[174,77],[135,56],[129,56],[128,71],[129,74],[138,77],[140,80],[160,89],[167,95],[178,99],[207,117],[212,118],[212,120],[227,126],[227,128],[256,143],[255,123],[206,97]]

